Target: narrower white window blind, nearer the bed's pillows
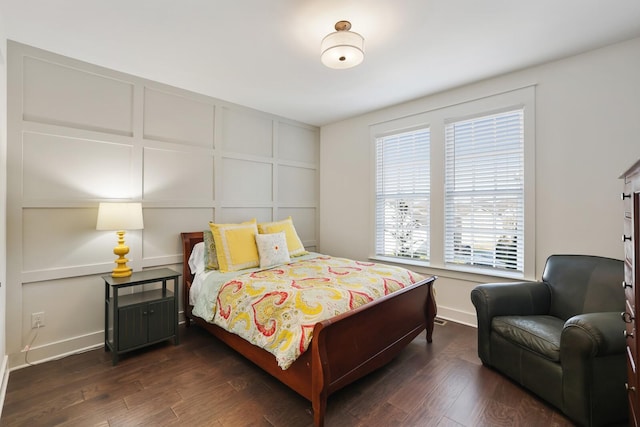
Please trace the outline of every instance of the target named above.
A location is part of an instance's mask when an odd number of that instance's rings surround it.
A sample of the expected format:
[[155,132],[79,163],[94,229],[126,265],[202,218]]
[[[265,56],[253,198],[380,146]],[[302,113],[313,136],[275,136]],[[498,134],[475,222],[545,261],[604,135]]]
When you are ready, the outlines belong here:
[[376,138],[376,255],[429,259],[430,131]]

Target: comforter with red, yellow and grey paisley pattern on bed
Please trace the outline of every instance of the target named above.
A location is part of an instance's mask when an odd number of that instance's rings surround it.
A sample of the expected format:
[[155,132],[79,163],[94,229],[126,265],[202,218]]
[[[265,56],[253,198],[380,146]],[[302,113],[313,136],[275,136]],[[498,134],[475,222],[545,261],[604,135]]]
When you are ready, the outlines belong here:
[[306,258],[219,282],[215,301],[209,290],[211,311],[201,317],[272,353],[287,369],[309,347],[317,322],[423,279],[390,265]]

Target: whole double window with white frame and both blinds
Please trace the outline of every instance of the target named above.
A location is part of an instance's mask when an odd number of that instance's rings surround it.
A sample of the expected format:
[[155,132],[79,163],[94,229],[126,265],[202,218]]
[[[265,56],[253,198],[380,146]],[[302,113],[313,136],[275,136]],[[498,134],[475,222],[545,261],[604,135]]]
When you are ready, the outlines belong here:
[[371,125],[371,258],[535,280],[535,86],[450,102]]

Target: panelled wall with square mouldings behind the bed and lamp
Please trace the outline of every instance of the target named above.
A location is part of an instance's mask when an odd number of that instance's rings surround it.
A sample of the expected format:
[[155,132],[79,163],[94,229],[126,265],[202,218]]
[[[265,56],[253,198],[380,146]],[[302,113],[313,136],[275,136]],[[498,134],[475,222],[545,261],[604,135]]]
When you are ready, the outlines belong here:
[[[100,201],[141,200],[134,270],[182,271],[180,232],[291,215],[316,248],[319,129],[8,43],[7,353],[29,362],[104,343],[113,232]],[[180,299],[182,301],[182,299]]]

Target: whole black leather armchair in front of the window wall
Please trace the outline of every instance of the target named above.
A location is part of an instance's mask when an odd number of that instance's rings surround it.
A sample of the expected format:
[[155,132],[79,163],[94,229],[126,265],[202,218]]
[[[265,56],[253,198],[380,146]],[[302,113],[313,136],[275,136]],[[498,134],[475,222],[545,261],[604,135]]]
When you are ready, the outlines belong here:
[[623,262],[552,255],[539,282],[476,286],[478,356],[579,425],[628,417]]

